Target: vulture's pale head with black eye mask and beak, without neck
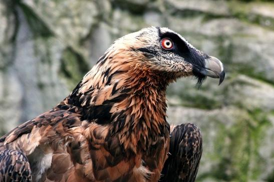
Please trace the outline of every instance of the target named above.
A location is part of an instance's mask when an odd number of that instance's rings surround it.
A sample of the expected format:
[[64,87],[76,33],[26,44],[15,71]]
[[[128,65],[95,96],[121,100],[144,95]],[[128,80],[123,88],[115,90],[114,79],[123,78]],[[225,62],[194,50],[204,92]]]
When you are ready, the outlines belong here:
[[138,69],[156,77],[161,75],[168,82],[192,75],[197,78],[198,86],[207,76],[219,78],[219,84],[225,76],[219,59],[196,49],[166,27],[143,28],[117,39],[98,63],[113,65],[117,62],[119,66],[127,64],[127,68],[136,74],[138,72],[134,70]]

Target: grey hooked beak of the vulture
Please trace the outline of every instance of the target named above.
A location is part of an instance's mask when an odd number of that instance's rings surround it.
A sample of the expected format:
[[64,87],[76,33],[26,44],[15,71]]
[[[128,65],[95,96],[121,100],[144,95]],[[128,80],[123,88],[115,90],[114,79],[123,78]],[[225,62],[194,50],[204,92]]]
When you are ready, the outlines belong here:
[[205,76],[219,78],[219,85],[220,85],[225,76],[225,71],[223,69],[222,62],[213,56],[209,56],[204,61],[205,61],[205,68],[201,71],[201,73]]

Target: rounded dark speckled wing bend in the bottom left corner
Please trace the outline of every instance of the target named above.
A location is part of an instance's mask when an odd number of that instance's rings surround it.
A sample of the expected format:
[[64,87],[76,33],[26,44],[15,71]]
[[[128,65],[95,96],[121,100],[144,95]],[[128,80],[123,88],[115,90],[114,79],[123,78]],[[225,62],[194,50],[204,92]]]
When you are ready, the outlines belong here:
[[32,181],[30,163],[24,153],[9,149],[1,151],[0,181]]

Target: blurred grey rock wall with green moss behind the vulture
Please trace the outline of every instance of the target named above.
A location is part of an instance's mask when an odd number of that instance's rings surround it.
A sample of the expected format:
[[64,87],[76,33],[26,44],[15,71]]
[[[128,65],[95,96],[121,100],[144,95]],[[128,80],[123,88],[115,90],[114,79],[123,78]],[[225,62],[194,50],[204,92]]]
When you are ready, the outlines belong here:
[[168,88],[170,123],[203,134],[197,181],[274,181],[274,3],[1,0],[0,135],[55,106],[118,37],[167,26],[227,76]]

